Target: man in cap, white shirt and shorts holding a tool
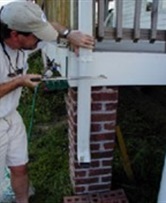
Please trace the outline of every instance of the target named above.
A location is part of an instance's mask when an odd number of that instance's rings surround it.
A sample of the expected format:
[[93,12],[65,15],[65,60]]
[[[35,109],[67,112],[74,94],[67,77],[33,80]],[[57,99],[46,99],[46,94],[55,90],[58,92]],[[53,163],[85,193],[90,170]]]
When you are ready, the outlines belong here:
[[92,49],[93,37],[69,31],[58,23],[52,25],[37,4],[12,2],[0,13],[0,182],[7,164],[17,203],[28,203],[27,138],[22,118],[17,112],[22,87],[34,88],[33,78],[26,74],[27,51],[39,41],[54,41],[58,33],[75,46]]

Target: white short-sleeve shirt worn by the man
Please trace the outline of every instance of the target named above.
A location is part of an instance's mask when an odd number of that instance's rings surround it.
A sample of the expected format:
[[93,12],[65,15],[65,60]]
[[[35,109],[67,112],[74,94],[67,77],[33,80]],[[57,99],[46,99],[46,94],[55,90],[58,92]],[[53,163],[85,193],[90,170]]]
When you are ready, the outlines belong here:
[[[15,68],[15,70],[17,68],[22,69],[23,74],[25,74],[28,70],[28,52],[22,50],[14,50],[7,45],[5,45],[5,50],[8,53],[12,66]],[[14,79],[14,77],[8,76],[9,72],[12,71],[13,70],[10,66],[10,61],[6,56],[2,45],[0,44],[0,84]],[[19,75],[15,77],[19,77]],[[16,88],[15,90],[0,98],[0,118],[8,116],[17,109],[21,96],[21,90],[22,87]]]

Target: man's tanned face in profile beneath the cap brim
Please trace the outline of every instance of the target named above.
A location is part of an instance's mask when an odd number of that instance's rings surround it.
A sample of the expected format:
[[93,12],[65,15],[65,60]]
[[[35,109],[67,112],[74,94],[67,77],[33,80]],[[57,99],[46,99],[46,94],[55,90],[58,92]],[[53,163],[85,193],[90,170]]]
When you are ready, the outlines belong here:
[[37,44],[40,42],[35,35],[30,34],[28,36],[18,34],[18,44],[19,44],[19,49],[24,49],[24,50],[33,50],[37,47]]

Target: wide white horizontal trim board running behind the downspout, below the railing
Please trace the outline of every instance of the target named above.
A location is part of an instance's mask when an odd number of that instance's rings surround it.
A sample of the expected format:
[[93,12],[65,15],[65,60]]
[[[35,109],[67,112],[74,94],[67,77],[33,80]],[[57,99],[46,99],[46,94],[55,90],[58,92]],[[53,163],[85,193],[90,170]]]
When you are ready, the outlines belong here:
[[[69,57],[68,76],[78,75],[77,58]],[[92,67],[86,75],[95,78],[105,75],[107,79],[92,79],[92,86],[166,85],[166,55],[152,53],[94,52]],[[79,75],[80,76],[80,75]],[[77,86],[77,81],[70,82]]]

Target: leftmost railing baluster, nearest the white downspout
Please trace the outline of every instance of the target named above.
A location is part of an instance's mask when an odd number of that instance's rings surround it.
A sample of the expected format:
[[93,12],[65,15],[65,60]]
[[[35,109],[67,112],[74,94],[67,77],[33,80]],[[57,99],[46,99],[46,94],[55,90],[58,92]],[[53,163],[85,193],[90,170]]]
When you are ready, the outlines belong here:
[[98,37],[104,37],[104,1],[98,0]]

